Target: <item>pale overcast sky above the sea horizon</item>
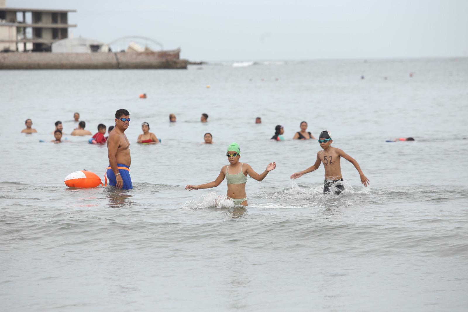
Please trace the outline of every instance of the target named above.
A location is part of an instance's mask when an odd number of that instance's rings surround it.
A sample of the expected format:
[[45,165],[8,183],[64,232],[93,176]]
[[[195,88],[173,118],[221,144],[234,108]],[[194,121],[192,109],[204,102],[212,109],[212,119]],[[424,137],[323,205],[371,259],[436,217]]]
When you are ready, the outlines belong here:
[[468,0],[7,0],[76,9],[73,36],[151,37],[190,60],[468,57]]

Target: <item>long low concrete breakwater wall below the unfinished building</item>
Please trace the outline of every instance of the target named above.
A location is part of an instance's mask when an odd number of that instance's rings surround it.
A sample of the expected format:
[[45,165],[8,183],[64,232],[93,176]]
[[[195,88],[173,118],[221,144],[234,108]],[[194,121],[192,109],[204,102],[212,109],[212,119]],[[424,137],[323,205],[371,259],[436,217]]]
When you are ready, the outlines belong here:
[[186,69],[187,63],[154,52],[0,53],[0,69]]

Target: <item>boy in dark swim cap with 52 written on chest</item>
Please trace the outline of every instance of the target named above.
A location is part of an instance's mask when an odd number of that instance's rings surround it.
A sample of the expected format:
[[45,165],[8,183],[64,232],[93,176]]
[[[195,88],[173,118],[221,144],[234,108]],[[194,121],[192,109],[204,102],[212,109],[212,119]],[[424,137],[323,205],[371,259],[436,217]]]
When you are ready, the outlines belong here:
[[359,172],[359,176],[361,177],[361,183],[364,184],[364,186],[369,184],[369,179],[366,178],[364,173],[362,173],[361,168],[359,167],[359,164],[356,160],[346,154],[343,150],[331,147],[331,142],[333,142],[333,140],[331,139],[331,134],[327,130],[320,133],[319,139],[322,150],[317,152],[317,158],[314,165],[307,168],[306,170],[294,173],[291,176],[292,179],[299,178],[305,173],[317,170],[320,167],[320,163],[323,163],[323,166],[325,167],[323,193],[329,193],[330,188],[332,186],[336,186],[335,194],[339,195],[344,191],[344,185],[341,183],[343,182],[343,177],[341,176],[340,166],[340,159],[343,157],[352,163],[354,167],[356,167]]

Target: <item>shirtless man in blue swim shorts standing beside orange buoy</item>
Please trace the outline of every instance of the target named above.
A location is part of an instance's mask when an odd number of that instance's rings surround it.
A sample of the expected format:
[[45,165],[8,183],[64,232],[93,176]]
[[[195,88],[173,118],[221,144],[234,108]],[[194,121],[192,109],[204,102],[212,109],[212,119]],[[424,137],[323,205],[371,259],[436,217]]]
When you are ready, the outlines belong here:
[[132,179],[130,178],[130,142],[124,134],[130,125],[130,113],[123,108],[116,111],[116,126],[109,134],[107,149],[109,156],[109,167],[107,168],[107,178],[109,185],[119,189],[132,189]]

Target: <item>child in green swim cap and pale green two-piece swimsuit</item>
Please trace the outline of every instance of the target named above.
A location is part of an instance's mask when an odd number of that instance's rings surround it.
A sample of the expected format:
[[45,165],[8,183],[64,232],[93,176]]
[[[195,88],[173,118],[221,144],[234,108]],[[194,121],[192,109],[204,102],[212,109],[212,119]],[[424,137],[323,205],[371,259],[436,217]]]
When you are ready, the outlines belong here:
[[231,145],[229,145],[226,156],[229,164],[221,168],[216,180],[202,185],[188,185],[185,189],[191,191],[201,188],[216,187],[219,186],[226,177],[227,198],[234,201],[234,204],[236,205],[247,206],[247,194],[245,193],[247,175],[257,181],[262,181],[268,172],[276,168],[276,163],[269,163],[265,171],[261,174],[256,173],[249,164],[239,163],[239,158],[241,158],[241,149],[237,143],[231,143]]

